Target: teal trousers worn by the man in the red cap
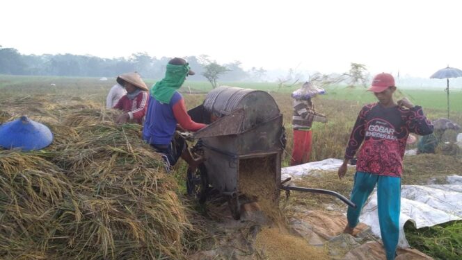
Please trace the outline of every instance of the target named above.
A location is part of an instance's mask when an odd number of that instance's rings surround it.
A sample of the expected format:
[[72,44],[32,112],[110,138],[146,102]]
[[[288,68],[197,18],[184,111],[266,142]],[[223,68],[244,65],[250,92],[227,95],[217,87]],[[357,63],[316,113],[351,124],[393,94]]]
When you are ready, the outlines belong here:
[[399,238],[399,212],[401,207],[401,177],[356,172],[351,201],[356,209],[348,207],[348,225],[356,227],[363,206],[377,184],[377,205],[383,247],[387,260],[395,259]]

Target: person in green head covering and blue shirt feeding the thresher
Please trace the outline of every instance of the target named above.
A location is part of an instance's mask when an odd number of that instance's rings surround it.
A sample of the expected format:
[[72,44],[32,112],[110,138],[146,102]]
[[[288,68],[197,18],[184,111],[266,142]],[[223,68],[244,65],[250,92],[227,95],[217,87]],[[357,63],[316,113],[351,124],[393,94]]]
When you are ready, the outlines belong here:
[[194,75],[194,72],[189,69],[186,60],[173,58],[167,64],[164,78],[151,89],[143,139],[163,155],[168,169],[180,157],[189,164],[191,170],[203,161],[202,158],[193,158],[186,141],[180,135],[175,135],[177,128],[197,131],[205,127],[203,123],[192,121],[186,112],[182,95],[177,92],[189,75]]

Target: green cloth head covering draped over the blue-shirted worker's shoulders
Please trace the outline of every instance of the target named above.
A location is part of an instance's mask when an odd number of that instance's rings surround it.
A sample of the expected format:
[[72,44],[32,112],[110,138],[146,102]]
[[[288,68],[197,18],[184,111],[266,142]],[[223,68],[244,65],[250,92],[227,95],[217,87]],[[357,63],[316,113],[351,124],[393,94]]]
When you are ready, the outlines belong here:
[[183,85],[188,72],[188,63],[184,65],[167,64],[165,76],[151,88],[151,96],[161,103],[170,103],[175,91]]

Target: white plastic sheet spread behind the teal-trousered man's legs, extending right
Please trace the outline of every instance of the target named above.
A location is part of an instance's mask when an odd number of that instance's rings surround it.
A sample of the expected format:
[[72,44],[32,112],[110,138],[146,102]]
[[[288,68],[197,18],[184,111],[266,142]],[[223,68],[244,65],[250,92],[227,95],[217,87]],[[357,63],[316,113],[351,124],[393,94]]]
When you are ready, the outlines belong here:
[[[462,176],[447,177],[452,184],[404,185],[401,187],[401,215],[399,217],[399,248],[408,248],[404,224],[411,220],[415,227],[431,227],[462,219]],[[360,221],[369,225],[372,233],[381,237],[377,216],[377,193],[366,202]]]

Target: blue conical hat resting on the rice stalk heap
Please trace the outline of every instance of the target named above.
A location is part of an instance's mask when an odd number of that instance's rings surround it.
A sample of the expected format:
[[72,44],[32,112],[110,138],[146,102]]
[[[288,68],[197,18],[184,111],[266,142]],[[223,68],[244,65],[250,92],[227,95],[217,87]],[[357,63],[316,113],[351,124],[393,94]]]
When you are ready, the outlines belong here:
[[22,150],[39,150],[53,141],[53,134],[47,126],[21,116],[20,119],[0,125],[0,147]]

